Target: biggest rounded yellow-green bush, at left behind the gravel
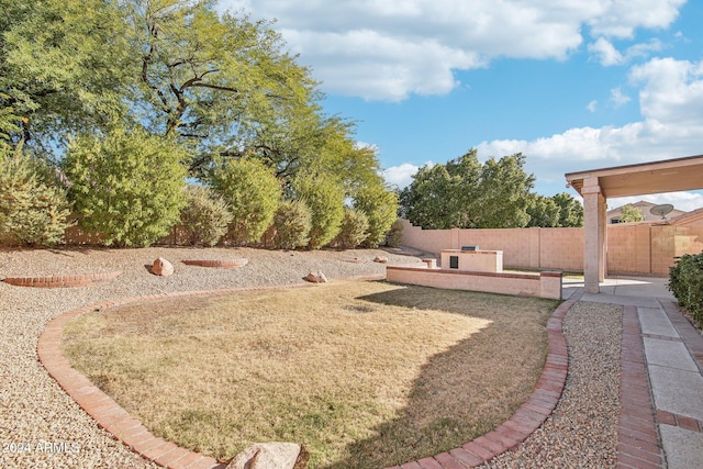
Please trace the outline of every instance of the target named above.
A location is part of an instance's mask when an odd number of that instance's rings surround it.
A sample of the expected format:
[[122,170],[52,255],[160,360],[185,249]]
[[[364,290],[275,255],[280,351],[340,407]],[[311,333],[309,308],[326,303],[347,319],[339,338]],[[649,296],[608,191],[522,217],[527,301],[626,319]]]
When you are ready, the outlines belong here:
[[65,160],[79,226],[105,245],[148,246],[168,234],[186,203],[183,150],[136,127],[82,135]]

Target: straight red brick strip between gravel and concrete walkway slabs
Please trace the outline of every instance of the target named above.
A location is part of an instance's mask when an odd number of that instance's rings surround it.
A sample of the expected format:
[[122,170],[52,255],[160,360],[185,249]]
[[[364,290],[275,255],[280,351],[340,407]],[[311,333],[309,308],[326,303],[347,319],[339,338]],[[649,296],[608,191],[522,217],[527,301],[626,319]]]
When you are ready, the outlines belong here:
[[620,362],[617,467],[665,468],[665,455],[659,443],[655,402],[636,306],[623,306]]

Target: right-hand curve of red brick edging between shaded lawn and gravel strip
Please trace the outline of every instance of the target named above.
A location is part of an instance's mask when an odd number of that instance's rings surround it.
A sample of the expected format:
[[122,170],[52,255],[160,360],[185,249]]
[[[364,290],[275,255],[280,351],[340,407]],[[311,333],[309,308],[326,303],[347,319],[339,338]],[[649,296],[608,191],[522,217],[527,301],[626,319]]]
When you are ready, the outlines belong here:
[[551,313],[547,321],[547,359],[542,376],[527,402],[495,429],[459,448],[387,469],[466,469],[481,466],[498,455],[514,449],[547,420],[557,406],[569,368],[569,353],[563,336],[563,317],[581,299],[574,292]]

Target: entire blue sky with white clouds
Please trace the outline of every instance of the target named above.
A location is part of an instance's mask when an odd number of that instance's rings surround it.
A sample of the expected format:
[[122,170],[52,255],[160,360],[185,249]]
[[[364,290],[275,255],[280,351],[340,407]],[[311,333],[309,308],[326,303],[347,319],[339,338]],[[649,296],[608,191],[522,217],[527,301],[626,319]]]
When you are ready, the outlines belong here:
[[[387,181],[469,149],[565,174],[703,154],[700,0],[220,0],[275,20]],[[609,200],[703,206],[703,191]]]

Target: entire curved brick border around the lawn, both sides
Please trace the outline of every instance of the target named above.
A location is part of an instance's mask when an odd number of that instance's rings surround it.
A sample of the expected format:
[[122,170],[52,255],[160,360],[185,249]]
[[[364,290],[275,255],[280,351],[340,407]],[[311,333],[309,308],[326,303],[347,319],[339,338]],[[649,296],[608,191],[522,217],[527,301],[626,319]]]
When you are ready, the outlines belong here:
[[[359,276],[350,279],[379,280],[384,276]],[[100,428],[147,460],[170,469],[224,469],[216,459],[194,453],[152,434],[140,421],[132,417],[108,394],[88,378],[70,367],[60,350],[64,325],[74,317],[96,310],[114,308],[141,301],[174,297],[197,297],[233,293],[246,290],[276,290],[308,287],[303,283],[263,288],[235,288],[174,292],[124,298],[71,310],[49,321],[37,344],[40,361],[49,376],[83,409]],[[492,432],[482,435],[460,448],[431,458],[411,461],[389,469],[466,469],[480,466],[493,457],[515,448],[535,432],[551,414],[563,390],[569,364],[562,321],[567,312],[581,298],[582,292],[561,303],[547,322],[547,360],[532,395],[513,416]]]

